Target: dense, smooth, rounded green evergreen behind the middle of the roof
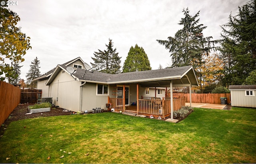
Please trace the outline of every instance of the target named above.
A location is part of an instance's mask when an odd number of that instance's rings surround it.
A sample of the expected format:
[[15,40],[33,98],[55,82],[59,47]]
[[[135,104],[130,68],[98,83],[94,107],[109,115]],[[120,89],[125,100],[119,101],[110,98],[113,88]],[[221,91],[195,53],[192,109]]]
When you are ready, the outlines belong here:
[[123,72],[135,72],[142,70],[151,70],[148,55],[142,47],[137,44],[131,47],[128,56],[124,61]]

